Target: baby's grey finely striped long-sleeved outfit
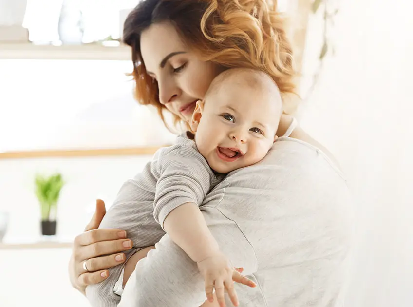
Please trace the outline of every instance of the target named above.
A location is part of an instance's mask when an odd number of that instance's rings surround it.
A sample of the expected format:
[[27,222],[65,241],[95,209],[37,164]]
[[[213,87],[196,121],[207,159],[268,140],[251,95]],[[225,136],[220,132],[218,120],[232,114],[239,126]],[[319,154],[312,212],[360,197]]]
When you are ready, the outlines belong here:
[[[187,132],[177,137],[175,145],[158,150],[142,173],[123,184],[105,214],[99,228],[126,230],[133,242],[127,259],[166,234],[162,225],[172,210],[188,202],[200,206],[208,191],[222,181],[224,175],[210,169],[191,138]],[[123,268],[109,269],[105,281],[86,288],[92,306],[117,306],[120,296],[113,288]]]

